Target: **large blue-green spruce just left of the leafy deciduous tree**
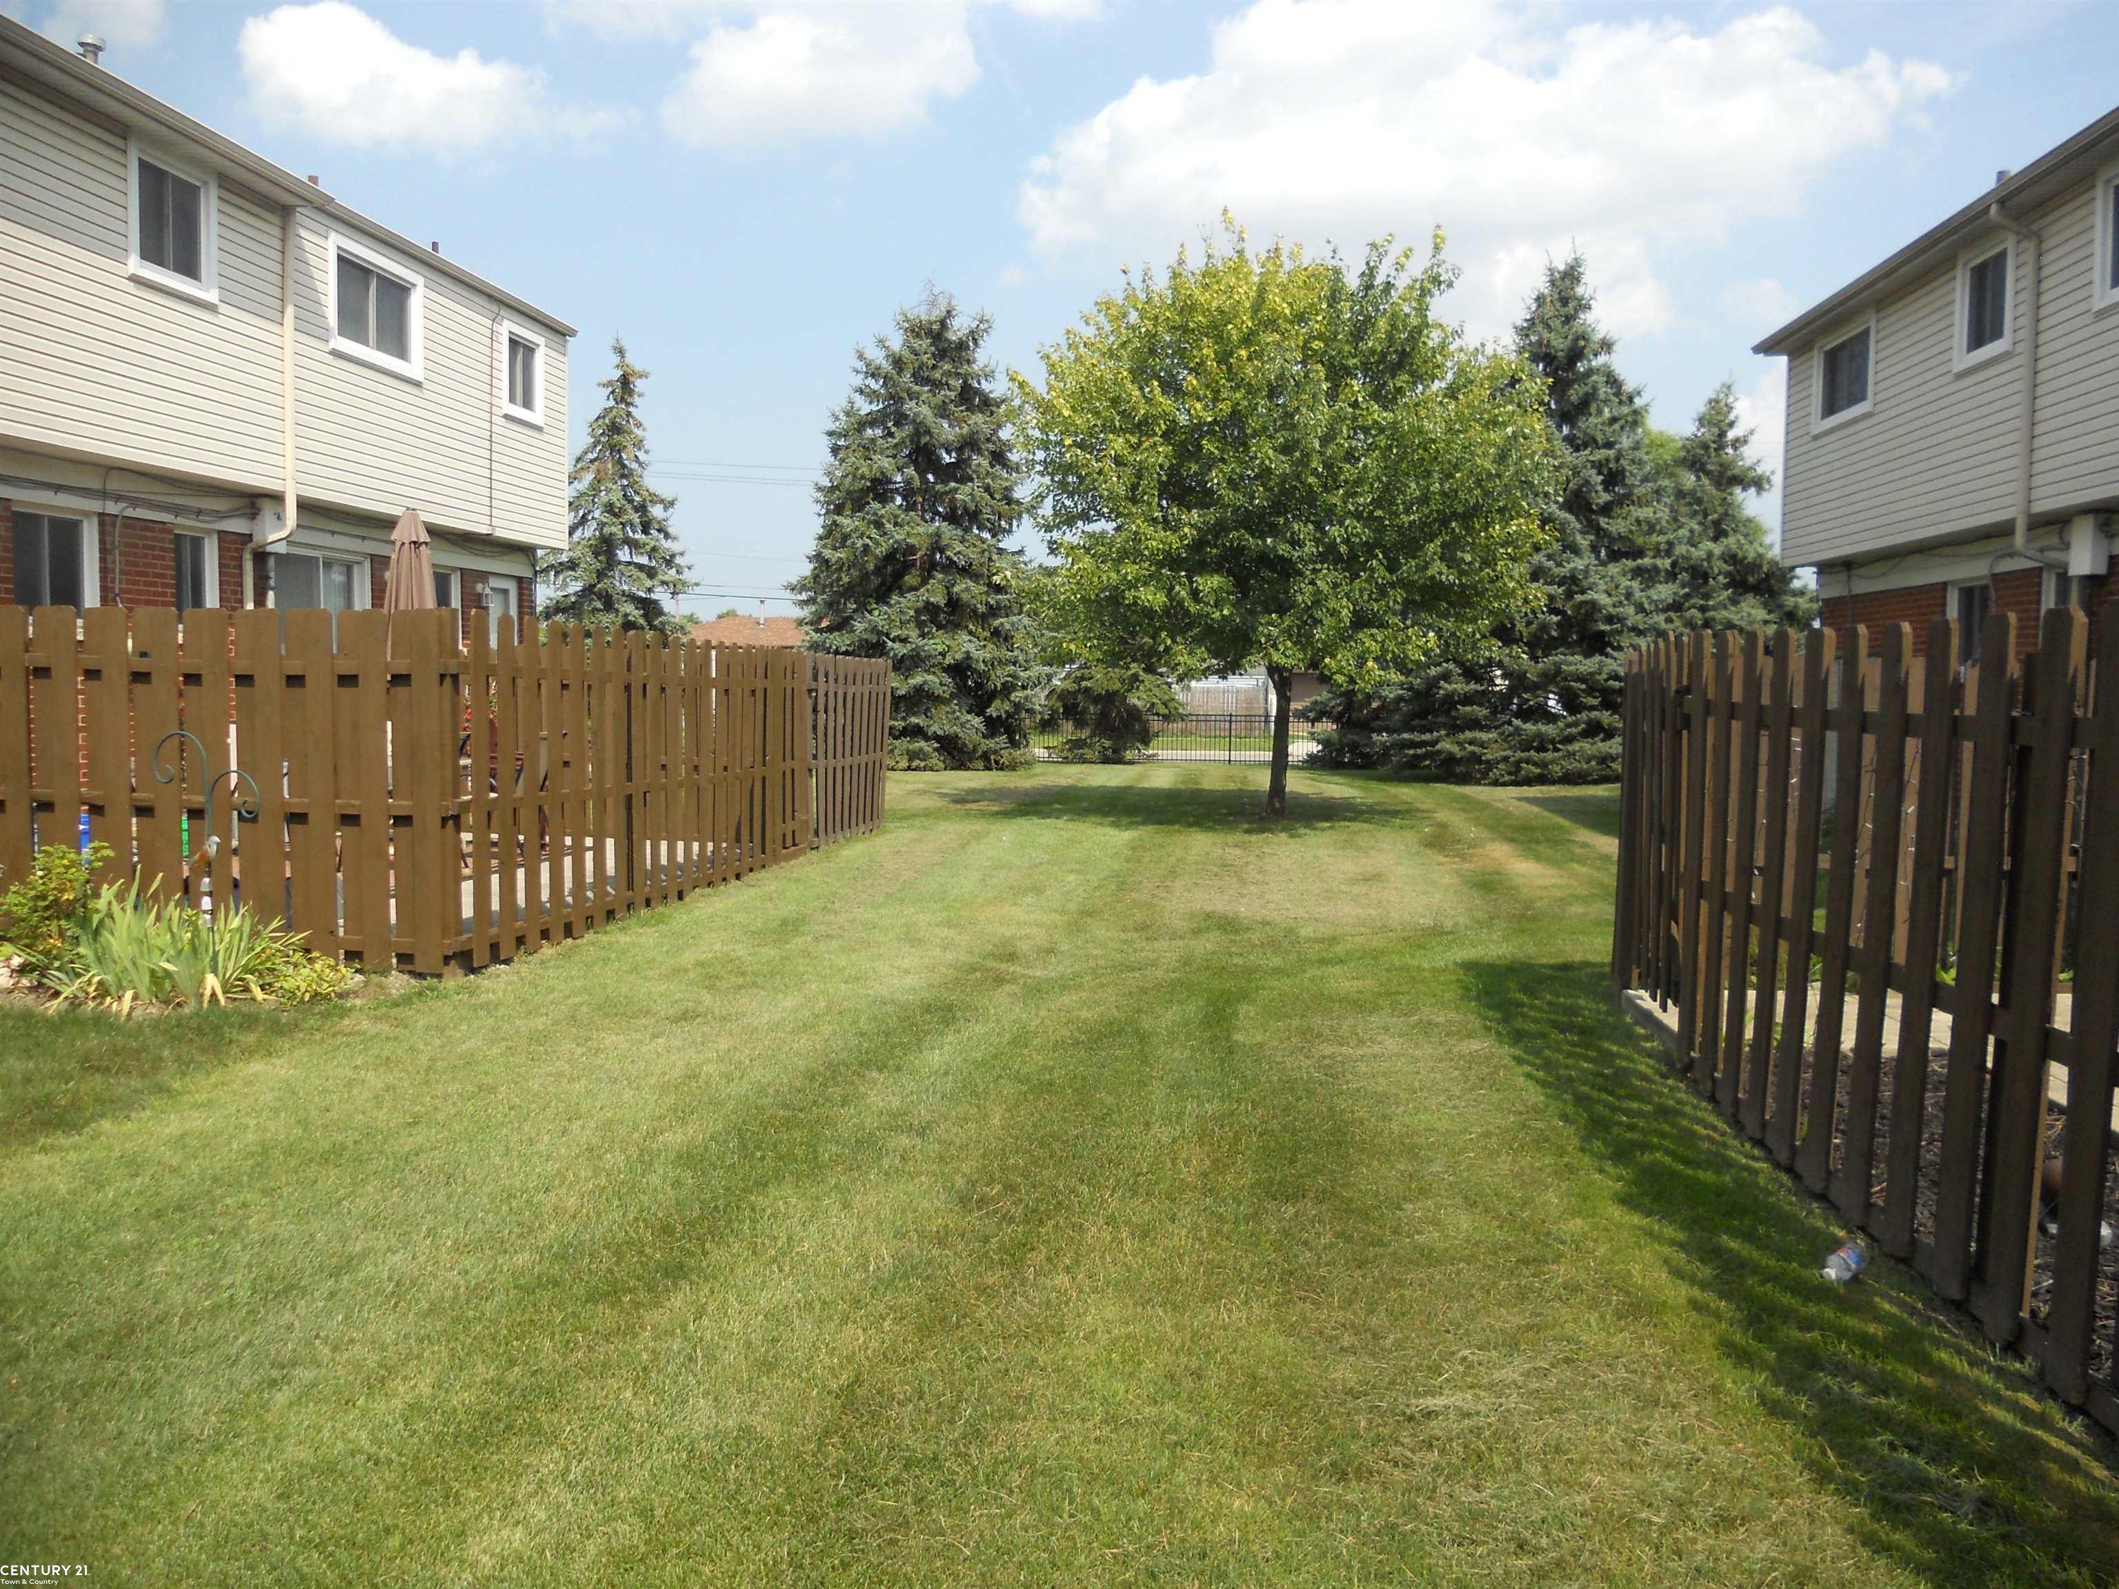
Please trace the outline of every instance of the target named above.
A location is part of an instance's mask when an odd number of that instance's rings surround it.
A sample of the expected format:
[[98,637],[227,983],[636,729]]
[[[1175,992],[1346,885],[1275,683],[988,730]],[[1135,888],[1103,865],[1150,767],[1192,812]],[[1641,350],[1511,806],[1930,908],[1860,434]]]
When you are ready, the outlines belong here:
[[888,657],[894,767],[1009,767],[1023,758],[1043,669],[1007,544],[1021,470],[979,350],[992,318],[943,292],[854,352],[818,485],[822,523],[795,583],[816,650]]

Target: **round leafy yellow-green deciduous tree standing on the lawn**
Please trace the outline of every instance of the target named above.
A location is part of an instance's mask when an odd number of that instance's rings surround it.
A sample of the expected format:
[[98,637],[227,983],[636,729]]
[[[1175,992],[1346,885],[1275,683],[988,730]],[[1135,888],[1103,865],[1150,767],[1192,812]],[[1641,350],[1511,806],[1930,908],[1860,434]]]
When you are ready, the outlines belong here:
[[1274,680],[1267,814],[1286,816],[1288,686],[1358,680],[1515,617],[1553,445],[1515,358],[1435,316],[1454,280],[1371,244],[1360,269],[1225,218],[1199,263],[1127,273],[1017,377],[1055,602],[1155,661]]

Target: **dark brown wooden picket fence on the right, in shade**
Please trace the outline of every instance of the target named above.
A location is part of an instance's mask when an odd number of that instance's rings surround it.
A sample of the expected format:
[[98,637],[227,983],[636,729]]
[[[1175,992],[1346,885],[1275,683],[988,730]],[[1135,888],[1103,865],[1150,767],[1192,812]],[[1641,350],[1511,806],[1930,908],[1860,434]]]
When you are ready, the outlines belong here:
[[1905,625],[1873,638],[1634,653],[1613,981],[1746,1136],[2119,1428],[2119,606],[2094,678],[2072,608],[2026,659],[1990,619],[1964,669],[1947,621],[1918,665]]

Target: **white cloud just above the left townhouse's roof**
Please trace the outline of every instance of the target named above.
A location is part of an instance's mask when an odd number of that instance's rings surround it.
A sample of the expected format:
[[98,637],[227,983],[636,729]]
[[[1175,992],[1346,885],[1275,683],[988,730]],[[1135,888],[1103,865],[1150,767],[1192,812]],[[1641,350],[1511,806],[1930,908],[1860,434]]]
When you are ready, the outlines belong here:
[[553,102],[542,68],[407,44],[343,0],[250,17],[235,51],[265,121],[354,148],[456,155],[623,119]]

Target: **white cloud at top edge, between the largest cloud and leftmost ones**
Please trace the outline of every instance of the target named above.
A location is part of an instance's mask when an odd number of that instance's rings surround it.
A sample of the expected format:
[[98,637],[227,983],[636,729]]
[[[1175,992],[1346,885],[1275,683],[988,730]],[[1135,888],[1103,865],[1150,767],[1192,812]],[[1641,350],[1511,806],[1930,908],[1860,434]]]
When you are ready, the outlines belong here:
[[962,4],[771,6],[693,42],[661,119],[687,144],[873,136],[977,81]]

